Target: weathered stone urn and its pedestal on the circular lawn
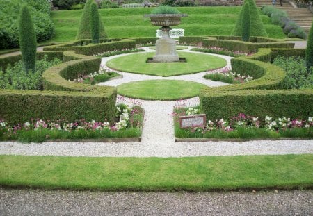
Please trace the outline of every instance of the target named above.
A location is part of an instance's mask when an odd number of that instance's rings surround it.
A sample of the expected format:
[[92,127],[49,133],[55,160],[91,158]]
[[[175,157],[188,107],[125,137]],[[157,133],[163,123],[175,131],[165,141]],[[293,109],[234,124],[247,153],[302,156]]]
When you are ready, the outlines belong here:
[[181,17],[187,17],[185,14],[151,14],[143,17],[150,17],[154,26],[161,26],[162,38],[157,40],[156,54],[153,61],[156,63],[179,62],[179,56],[176,52],[176,42],[169,36],[170,26],[180,24]]

